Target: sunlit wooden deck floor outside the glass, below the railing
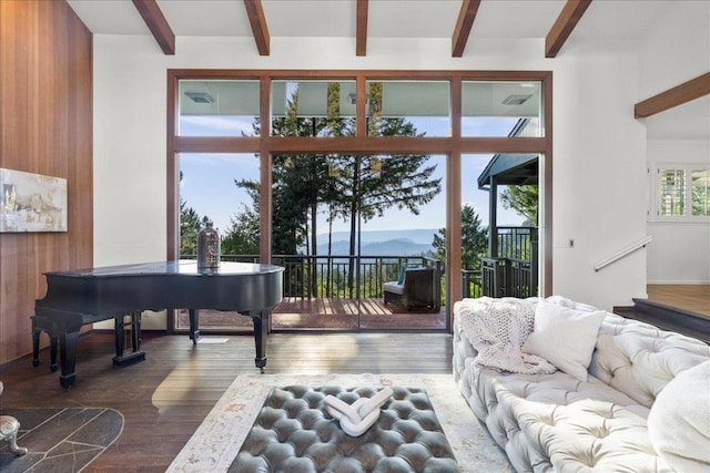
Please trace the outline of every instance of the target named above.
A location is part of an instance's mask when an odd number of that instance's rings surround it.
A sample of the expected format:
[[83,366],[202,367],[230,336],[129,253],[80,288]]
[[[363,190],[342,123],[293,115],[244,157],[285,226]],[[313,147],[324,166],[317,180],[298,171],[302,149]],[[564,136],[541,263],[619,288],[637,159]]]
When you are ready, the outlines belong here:
[[[359,317],[358,317],[359,313]],[[179,317],[179,328],[187,328],[187,312]],[[235,312],[200,311],[200,329],[207,333],[251,330],[250,318]],[[274,309],[272,330],[445,330],[446,308],[407,311],[385,305],[381,298],[301,298],[286,297]]]

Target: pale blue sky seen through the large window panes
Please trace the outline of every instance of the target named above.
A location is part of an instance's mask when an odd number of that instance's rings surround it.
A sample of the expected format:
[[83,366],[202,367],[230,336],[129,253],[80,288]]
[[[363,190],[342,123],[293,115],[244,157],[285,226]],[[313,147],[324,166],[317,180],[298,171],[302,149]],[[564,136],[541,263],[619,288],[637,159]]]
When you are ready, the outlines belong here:
[[[427,131],[429,136],[445,136],[448,134],[448,121],[440,119],[412,119],[417,130]],[[464,135],[477,136],[505,136],[510,131],[517,120],[490,121],[489,123],[470,123],[468,130],[464,123]],[[231,135],[235,130],[251,131],[251,121],[243,119],[232,121],[222,117],[182,117],[181,134],[215,136],[224,135],[230,128]],[[471,128],[476,127],[476,131]],[[484,127],[485,130],[481,130]],[[479,191],[477,178],[486,167],[491,154],[464,155],[462,157],[462,199],[464,204],[473,205],[480,216],[483,225],[488,225],[488,193]],[[433,155],[429,158],[435,163],[436,172],[434,177],[442,177],[443,191],[429,204],[422,208],[419,215],[412,215],[406,210],[389,209],[384,217],[375,218],[362,224],[362,230],[390,230],[390,229],[415,229],[415,228],[444,228],[446,218],[446,160],[443,155]],[[207,154],[207,153],[182,153],[180,155],[180,169],[183,178],[180,183],[180,196],[189,207],[195,209],[199,215],[207,215],[214,227],[224,233],[231,226],[231,218],[240,212],[244,205],[251,205],[251,199],[246,193],[239,188],[235,179],[258,179],[258,160],[254,154]],[[524,217],[514,210],[503,208],[498,204],[498,225],[517,226],[524,222]],[[323,217],[324,220],[324,217]],[[325,229],[325,223],[320,224]],[[349,229],[349,223],[337,220],[333,225],[334,232]]]

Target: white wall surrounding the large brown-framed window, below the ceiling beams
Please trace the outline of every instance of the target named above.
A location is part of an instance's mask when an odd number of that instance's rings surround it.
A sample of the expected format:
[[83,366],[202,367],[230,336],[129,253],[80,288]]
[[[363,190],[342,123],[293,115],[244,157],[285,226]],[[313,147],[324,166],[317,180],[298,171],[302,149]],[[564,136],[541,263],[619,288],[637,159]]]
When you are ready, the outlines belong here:
[[632,116],[629,45],[587,43],[552,60],[541,40],[478,40],[460,59],[450,58],[449,40],[372,40],[366,58],[354,48],[352,39],[273,38],[264,58],[253,41],[179,38],[166,56],[152,38],[95,35],[95,265],[165,257],[168,69],[551,70],[554,292],[606,309],[645,296],[645,250],[592,269],[646,235],[646,138]]

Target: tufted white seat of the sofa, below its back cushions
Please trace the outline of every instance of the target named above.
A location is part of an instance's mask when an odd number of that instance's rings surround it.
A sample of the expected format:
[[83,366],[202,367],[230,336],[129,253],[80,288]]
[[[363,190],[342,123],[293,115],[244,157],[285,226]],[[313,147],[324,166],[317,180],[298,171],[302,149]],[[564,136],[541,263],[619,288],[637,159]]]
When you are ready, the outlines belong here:
[[670,471],[650,443],[648,409],[598,379],[469,368],[467,401],[517,471]]

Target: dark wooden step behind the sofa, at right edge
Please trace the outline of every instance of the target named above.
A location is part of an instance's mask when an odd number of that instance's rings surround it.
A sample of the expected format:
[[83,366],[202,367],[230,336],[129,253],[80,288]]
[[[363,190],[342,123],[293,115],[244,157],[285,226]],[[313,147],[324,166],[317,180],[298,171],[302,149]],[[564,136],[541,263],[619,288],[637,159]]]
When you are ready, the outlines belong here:
[[631,307],[615,307],[613,313],[710,343],[710,319],[699,313],[648,299],[633,299]]

